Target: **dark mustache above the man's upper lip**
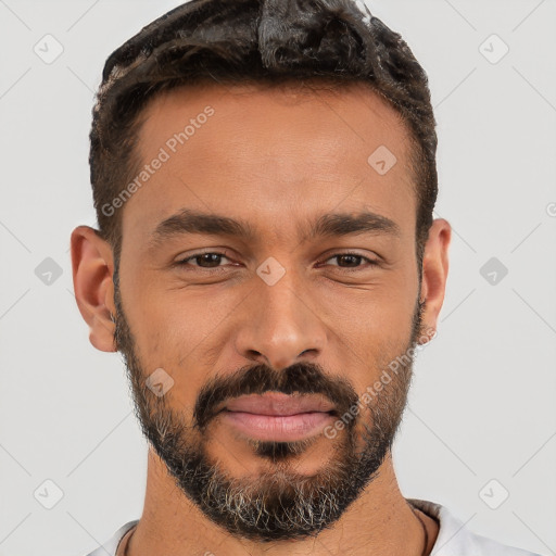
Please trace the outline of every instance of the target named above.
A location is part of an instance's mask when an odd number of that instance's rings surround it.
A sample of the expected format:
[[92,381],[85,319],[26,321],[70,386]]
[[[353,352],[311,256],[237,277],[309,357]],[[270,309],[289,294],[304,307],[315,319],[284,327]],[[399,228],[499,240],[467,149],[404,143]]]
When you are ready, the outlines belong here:
[[[218,413],[218,406],[240,395],[280,392],[291,395],[320,394],[333,405],[338,416],[357,404],[354,388],[343,377],[331,377],[314,363],[295,363],[282,370],[257,364],[238,369],[232,375],[216,376],[202,387],[193,409],[193,426],[203,430]],[[350,421],[350,426],[354,420]]]

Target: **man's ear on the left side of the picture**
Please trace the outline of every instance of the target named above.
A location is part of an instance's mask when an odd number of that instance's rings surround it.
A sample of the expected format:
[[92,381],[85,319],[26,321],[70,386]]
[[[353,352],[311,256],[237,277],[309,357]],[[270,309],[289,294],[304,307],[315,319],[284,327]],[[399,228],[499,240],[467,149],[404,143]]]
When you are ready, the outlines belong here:
[[77,306],[89,325],[89,340],[102,352],[115,352],[114,261],[97,230],[79,226],[72,233],[72,266]]

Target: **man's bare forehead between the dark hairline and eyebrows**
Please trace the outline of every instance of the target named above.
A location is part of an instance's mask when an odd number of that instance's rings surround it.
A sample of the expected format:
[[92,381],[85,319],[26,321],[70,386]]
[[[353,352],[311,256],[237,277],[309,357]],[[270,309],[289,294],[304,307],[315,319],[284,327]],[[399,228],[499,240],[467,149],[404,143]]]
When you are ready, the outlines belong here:
[[126,203],[124,231],[144,235],[184,208],[275,233],[334,207],[414,226],[409,134],[363,85],[184,87],[155,97],[142,118],[141,167],[163,151],[166,160]]

